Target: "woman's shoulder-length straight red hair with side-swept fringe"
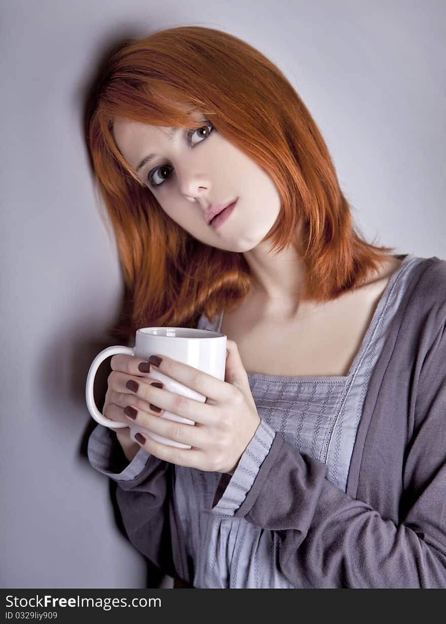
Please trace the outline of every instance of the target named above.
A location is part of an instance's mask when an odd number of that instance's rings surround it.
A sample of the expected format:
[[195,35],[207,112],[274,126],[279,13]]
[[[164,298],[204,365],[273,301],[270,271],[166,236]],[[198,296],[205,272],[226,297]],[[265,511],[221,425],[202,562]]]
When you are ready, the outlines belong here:
[[[111,334],[143,326],[194,327],[232,311],[250,288],[242,253],[201,243],[164,213],[117,149],[115,117],[217,132],[274,180],[281,208],[264,240],[292,244],[304,261],[302,300],[323,302],[379,272],[389,251],[355,232],[324,139],[284,74],[226,32],[179,26],[129,41],[107,61],[89,115],[89,150],[114,233],[127,309]],[[295,241],[302,224],[302,242]]]

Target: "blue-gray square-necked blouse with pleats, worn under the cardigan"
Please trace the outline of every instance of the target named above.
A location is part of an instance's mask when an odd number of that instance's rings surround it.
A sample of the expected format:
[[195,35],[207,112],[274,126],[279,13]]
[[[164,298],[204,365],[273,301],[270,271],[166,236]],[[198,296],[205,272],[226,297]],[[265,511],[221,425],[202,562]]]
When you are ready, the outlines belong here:
[[[421,261],[406,256],[390,278],[347,376],[284,377],[248,372],[262,422],[212,511],[221,475],[176,466],[174,492],[186,550],[195,562],[194,587],[308,587],[305,582],[294,585],[280,572],[279,536],[243,518],[234,519],[234,513],[251,489],[277,431],[300,453],[324,462],[326,478],[345,492],[370,373],[411,270]],[[212,323],[202,316],[197,327],[220,331],[222,319],[223,313]]]

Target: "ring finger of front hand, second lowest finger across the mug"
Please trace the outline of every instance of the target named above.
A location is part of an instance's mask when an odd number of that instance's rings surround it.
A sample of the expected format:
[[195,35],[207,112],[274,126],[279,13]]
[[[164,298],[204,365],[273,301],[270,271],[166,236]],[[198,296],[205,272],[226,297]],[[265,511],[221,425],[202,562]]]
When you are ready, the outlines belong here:
[[182,422],[170,421],[167,418],[153,416],[149,412],[141,409],[137,411],[136,417],[126,417],[128,422],[140,425],[159,436],[167,437],[169,440],[187,444],[195,449],[209,447],[209,432],[202,425],[188,425]]

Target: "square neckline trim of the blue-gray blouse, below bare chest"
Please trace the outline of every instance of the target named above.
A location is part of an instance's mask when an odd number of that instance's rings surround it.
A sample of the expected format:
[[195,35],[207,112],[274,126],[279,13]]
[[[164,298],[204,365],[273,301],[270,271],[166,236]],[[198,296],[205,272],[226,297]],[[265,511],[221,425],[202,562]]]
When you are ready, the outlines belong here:
[[[289,384],[305,383],[305,382],[321,383],[321,384],[345,384],[347,383],[347,381],[349,381],[349,379],[351,379],[354,376],[355,370],[359,366],[360,360],[362,359],[362,356],[364,355],[364,351],[367,349],[367,346],[370,343],[370,339],[372,338],[372,334],[375,331],[375,328],[379,322],[379,319],[382,313],[384,312],[385,308],[387,307],[387,301],[389,300],[390,293],[392,293],[392,291],[394,290],[395,283],[399,279],[403,270],[405,270],[405,268],[411,263],[411,261],[415,260],[416,258],[416,256],[413,255],[412,253],[408,253],[406,255],[398,254],[398,255],[395,255],[394,257],[398,258],[399,260],[402,259],[402,262],[400,266],[397,268],[397,270],[394,271],[394,273],[392,273],[392,276],[390,277],[390,280],[387,283],[387,286],[385,286],[385,289],[382,295],[380,296],[380,300],[378,302],[378,305],[375,308],[375,312],[372,316],[372,320],[370,321],[369,326],[367,327],[367,331],[365,332],[364,338],[362,339],[360,347],[357,351],[357,354],[355,355],[354,360],[352,361],[352,364],[350,366],[350,369],[347,375],[331,375],[331,376],[330,375],[295,375],[295,376],[287,375],[285,376],[285,375],[270,375],[270,374],[265,374],[265,373],[250,373],[249,371],[246,371],[249,380],[250,381],[251,380],[252,381],[270,381],[270,382],[289,383]],[[216,325],[217,327],[216,331],[220,331],[220,328],[223,322],[223,316],[224,316],[224,311],[222,311],[219,315],[219,319]]]

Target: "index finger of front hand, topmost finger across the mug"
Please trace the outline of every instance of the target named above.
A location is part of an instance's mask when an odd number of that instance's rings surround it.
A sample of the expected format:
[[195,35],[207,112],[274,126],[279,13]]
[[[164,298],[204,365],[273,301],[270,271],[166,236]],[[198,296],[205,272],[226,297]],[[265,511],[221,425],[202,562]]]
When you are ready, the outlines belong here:
[[189,364],[177,362],[175,359],[167,358],[165,355],[152,355],[149,358],[152,370],[159,371],[172,379],[176,379],[187,388],[191,388],[199,394],[214,401],[224,401],[230,384],[208,375]]

